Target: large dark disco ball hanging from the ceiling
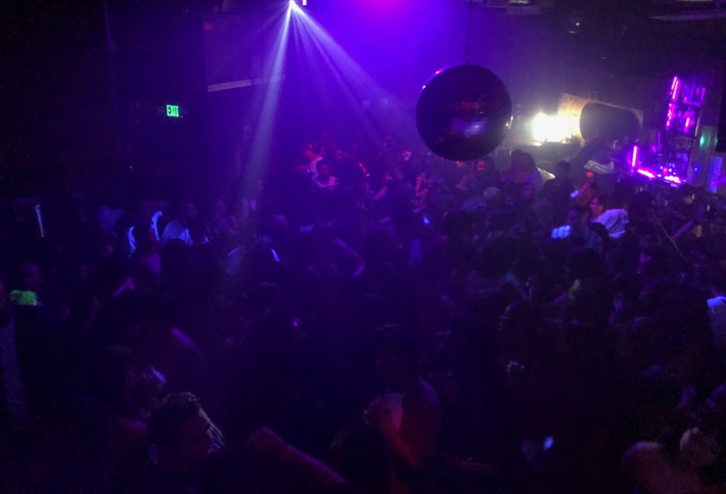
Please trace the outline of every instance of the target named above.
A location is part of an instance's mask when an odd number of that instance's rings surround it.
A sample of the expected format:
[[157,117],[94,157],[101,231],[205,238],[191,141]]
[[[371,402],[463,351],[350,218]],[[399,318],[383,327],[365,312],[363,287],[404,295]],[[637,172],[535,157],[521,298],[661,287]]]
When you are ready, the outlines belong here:
[[416,126],[428,149],[447,160],[483,157],[512,123],[512,100],[499,78],[478,65],[439,70],[416,104]]

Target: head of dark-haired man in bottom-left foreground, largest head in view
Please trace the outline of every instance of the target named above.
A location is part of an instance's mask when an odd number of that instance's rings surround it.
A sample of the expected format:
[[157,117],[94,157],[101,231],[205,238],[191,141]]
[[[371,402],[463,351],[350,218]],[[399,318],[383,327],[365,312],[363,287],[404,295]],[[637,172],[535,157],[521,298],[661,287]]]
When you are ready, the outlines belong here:
[[211,454],[211,421],[192,393],[168,395],[152,413],[148,427],[160,463],[170,468],[185,471]]

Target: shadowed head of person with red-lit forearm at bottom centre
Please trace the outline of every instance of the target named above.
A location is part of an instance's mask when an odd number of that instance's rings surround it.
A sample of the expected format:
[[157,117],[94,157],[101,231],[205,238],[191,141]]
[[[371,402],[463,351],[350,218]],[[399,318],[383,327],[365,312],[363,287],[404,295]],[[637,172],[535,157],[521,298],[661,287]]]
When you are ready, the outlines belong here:
[[418,351],[417,338],[410,329],[399,324],[383,326],[375,334],[375,373],[389,387],[400,387],[415,376]]

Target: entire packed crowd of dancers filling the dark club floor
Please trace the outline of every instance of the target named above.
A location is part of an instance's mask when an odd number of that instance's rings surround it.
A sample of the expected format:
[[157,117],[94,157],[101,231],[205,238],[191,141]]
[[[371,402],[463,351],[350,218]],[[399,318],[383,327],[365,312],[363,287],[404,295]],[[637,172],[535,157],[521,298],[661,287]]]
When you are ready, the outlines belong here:
[[573,171],[322,133],[213,199],[4,202],[2,492],[726,489],[726,211]]

